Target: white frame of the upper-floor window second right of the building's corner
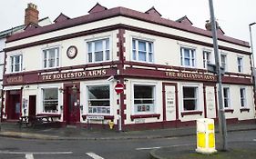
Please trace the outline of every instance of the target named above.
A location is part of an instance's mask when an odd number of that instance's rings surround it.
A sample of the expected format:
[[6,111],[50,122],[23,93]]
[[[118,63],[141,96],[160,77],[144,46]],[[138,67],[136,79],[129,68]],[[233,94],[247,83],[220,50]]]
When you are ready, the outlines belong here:
[[[184,50],[189,50],[189,65],[185,65],[185,52]],[[194,58],[192,58],[194,56]],[[195,68],[197,64],[197,58],[196,58],[196,49],[190,48],[186,46],[180,46],[180,65],[184,67],[192,67]]]

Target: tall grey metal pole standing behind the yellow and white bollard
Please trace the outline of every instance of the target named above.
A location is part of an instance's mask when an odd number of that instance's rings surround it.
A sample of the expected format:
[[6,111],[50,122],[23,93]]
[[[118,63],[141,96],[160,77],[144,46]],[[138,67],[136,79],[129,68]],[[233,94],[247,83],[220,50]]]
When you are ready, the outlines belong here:
[[226,151],[228,147],[227,142],[227,125],[225,118],[225,110],[223,107],[223,96],[222,96],[222,84],[221,84],[221,72],[220,72],[220,55],[219,55],[219,46],[217,41],[217,32],[216,32],[216,21],[213,10],[212,0],[209,0],[210,5],[210,23],[211,23],[211,33],[213,39],[214,55],[215,55],[215,64],[217,70],[217,78],[219,84],[218,96],[219,96],[219,124],[220,124],[220,138],[221,138],[221,150]]

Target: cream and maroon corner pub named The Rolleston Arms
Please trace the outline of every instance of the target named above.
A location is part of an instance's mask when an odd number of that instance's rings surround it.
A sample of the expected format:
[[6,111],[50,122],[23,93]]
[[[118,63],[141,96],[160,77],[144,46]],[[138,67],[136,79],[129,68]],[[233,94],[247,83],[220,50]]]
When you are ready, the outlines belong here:
[[[218,121],[208,27],[193,26],[187,16],[163,18],[154,7],[142,13],[99,4],[88,15],[60,14],[54,22],[7,38],[3,121],[49,115],[61,125],[113,122],[116,130]],[[220,26],[218,38],[227,122],[255,122],[250,45]],[[120,94],[117,84],[124,85]]]

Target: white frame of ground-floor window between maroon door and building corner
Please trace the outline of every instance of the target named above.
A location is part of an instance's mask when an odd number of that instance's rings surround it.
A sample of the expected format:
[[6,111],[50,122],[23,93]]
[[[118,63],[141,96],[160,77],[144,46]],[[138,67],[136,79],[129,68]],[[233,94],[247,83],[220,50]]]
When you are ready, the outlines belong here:
[[[109,87],[109,111],[110,113],[109,114],[94,114],[94,113],[89,113],[89,104],[88,104],[88,86],[108,86]],[[85,90],[85,94],[81,94],[81,95],[85,95],[86,96],[86,99],[84,101],[84,103],[86,104],[86,114],[92,114],[92,115],[112,115],[113,114],[113,104],[112,104],[112,98],[113,98],[113,88],[111,86],[111,84],[108,84],[108,83],[96,83],[96,84],[85,84],[84,85],[84,90]],[[81,101],[82,102],[82,101]]]

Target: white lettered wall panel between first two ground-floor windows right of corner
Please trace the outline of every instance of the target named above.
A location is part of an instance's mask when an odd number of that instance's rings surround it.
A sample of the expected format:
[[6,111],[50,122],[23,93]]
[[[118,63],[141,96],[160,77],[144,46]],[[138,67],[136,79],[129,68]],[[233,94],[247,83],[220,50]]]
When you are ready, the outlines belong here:
[[167,121],[173,121],[176,119],[175,86],[166,85],[165,91],[166,119]]

